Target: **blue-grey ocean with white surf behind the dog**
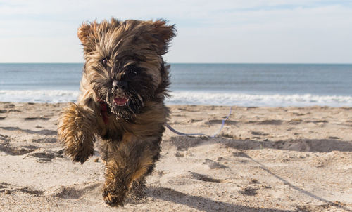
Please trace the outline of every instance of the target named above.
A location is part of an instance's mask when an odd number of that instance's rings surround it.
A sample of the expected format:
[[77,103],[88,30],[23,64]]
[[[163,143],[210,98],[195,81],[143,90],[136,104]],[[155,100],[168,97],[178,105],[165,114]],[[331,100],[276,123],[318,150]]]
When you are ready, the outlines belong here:
[[[168,105],[352,106],[352,65],[170,64]],[[0,64],[1,102],[75,102],[81,63]]]

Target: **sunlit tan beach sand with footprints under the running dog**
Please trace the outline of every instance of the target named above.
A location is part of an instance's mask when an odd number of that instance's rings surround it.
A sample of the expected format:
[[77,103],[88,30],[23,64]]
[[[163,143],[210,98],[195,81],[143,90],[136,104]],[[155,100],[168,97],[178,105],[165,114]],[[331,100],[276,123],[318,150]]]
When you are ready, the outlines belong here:
[[[0,102],[0,211],[352,211],[352,107],[233,107],[216,138],[167,129],[146,197],[111,208],[99,152],[73,164],[56,140],[65,105]],[[212,135],[229,107],[170,110]]]

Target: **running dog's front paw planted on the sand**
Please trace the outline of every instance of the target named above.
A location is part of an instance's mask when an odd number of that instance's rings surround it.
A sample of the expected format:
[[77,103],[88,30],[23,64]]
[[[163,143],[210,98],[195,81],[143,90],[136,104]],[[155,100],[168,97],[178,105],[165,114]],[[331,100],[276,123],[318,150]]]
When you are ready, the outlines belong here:
[[127,187],[124,185],[117,185],[115,183],[110,183],[103,189],[103,199],[109,206],[121,206],[126,199]]

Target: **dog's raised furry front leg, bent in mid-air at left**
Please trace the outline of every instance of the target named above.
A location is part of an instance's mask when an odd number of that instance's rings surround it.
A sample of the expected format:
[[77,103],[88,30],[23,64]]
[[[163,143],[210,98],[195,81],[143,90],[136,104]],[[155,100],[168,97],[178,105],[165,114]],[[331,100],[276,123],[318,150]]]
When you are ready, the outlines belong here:
[[65,145],[65,153],[74,162],[87,161],[94,154],[96,132],[94,111],[74,103],[63,110],[58,119],[58,138]]

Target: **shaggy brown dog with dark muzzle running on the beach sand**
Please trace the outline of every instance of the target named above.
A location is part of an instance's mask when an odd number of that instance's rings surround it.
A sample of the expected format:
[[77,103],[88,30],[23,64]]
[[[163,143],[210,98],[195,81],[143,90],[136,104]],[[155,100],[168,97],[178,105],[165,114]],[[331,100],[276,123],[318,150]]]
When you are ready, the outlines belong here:
[[94,154],[100,138],[103,199],[123,206],[127,195],[144,194],[144,178],[159,159],[170,84],[162,55],[175,28],[163,20],[111,19],[84,23],[77,34],[84,46],[82,93],[59,117],[58,136],[80,163]]

